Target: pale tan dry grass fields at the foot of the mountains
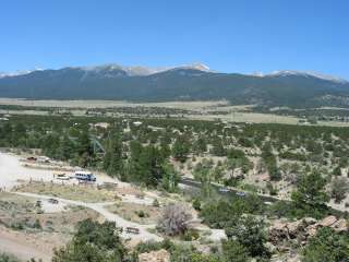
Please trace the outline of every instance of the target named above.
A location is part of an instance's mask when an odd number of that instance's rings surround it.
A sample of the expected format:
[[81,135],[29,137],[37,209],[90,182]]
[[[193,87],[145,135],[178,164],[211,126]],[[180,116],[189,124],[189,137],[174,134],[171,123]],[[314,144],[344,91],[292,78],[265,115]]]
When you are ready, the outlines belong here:
[[[51,108],[65,108],[73,116],[86,116],[86,109],[103,108],[136,108],[158,107],[183,109],[200,112],[200,115],[184,115],[186,119],[200,119],[213,121],[221,119],[228,122],[251,122],[251,123],[286,123],[299,124],[300,118],[293,116],[280,116],[274,114],[250,112],[253,105],[230,106],[226,100],[216,102],[167,102],[167,103],[130,103],[121,100],[27,100],[20,98],[0,98],[0,105],[24,106],[25,108],[14,110],[1,110],[0,114],[10,115],[37,115],[47,116]],[[33,107],[33,109],[31,109]],[[35,110],[40,107],[40,110]],[[47,108],[47,110],[45,110]],[[112,116],[112,114],[108,115]],[[118,114],[128,117],[128,114]],[[349,127],[349,122],[341,121],[318,121],[317,126]]]

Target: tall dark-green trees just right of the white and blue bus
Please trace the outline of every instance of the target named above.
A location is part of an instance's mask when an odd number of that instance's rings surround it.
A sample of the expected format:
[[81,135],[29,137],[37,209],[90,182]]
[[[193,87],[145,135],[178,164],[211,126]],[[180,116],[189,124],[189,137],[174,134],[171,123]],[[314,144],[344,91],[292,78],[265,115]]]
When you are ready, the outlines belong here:
[[142,145],[134,140],[128,144],[117,134],[109,139],[104,168],[110,176],[146,187],[160,187],[174,192],[179,175],[169,163],[168,147]]

